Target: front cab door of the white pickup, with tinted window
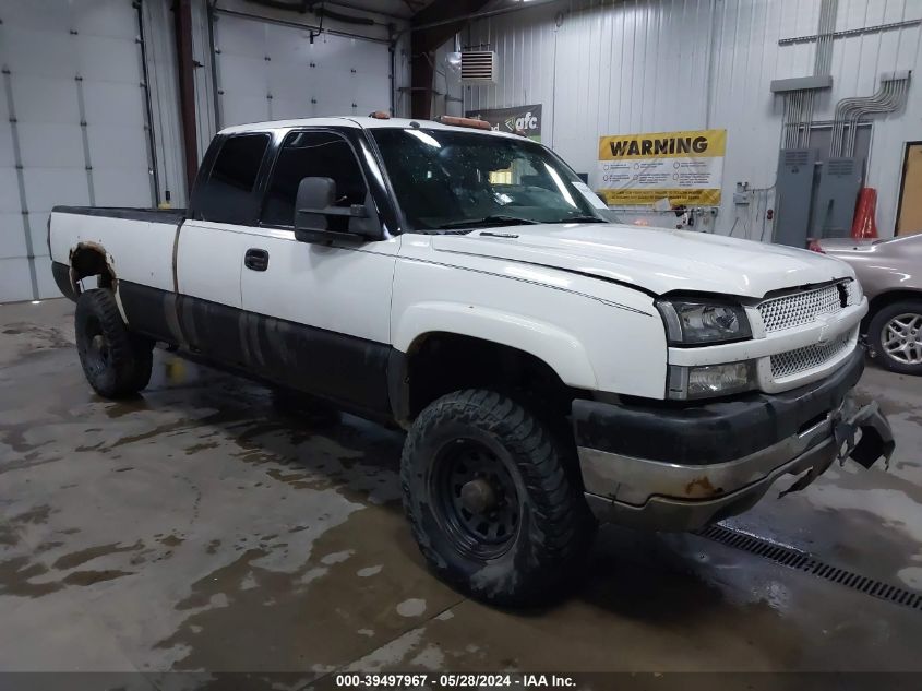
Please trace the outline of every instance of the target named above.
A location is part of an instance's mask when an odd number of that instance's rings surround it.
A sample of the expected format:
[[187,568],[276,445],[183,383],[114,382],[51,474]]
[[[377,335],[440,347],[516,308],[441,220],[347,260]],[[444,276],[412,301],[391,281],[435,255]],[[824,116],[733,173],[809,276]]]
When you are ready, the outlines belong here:
[[306,177],[336,183],[344,204],[368,186],[349,141],[334,130],[288,132],[248,229],[240,282],[251,360],[276,381],[367,413],[390,413],[386,366],[398,240],[316,245],[295,239]]

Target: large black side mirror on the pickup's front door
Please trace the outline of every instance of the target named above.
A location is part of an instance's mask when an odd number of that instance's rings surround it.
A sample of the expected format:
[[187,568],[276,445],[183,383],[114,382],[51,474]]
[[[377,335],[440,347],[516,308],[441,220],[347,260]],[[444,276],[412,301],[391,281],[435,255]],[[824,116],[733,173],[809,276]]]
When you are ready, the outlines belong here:
[[[302,242],[380,240],[381,222],[371,194],[364,204],[335,206],[336,182],[332,178],[304,178],[295,198],[295,238]],[[344,222],[331,224],[335,218]],[[331,229],[333,225],[336,229]]]

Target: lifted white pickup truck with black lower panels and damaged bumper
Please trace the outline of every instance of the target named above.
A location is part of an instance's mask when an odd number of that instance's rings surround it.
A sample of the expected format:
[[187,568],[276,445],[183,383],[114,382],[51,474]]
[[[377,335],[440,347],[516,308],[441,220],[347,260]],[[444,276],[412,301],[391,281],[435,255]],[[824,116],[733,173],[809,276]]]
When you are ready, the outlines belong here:
[[55,209],[91,385],[135,394],[159,342],[405,428],[422,553],[501,604],[577,573],[596,517],[695,529],[782,475],[889,457],[850,396],[847,264],[609,223],[553,152],[481,128],[235,127],[188,210]]

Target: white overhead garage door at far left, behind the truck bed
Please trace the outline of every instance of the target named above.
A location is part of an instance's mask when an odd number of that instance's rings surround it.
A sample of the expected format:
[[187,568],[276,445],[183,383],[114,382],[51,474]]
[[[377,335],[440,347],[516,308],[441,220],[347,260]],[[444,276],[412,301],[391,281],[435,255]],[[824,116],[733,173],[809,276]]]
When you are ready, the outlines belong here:
[[56,204],[149,206],[130,0],[0,0],[0,302],[60,295]]

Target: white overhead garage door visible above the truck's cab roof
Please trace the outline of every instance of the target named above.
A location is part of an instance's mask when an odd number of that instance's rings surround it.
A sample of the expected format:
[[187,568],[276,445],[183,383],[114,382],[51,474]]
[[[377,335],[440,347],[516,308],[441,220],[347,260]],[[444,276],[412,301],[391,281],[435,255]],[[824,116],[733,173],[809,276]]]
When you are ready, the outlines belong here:
[[391,106],[383,43],[218,13],[215,51],[221,127]]

